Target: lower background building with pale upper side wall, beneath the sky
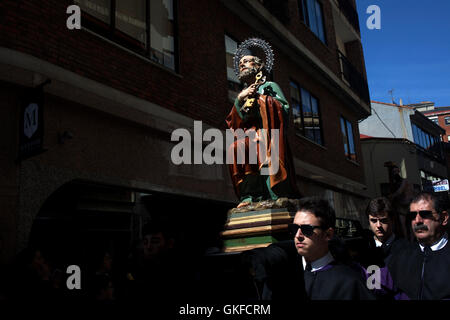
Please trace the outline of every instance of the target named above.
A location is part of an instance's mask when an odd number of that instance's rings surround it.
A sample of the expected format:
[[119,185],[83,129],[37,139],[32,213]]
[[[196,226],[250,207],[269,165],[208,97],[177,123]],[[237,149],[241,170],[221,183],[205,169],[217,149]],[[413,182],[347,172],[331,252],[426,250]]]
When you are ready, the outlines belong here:
[[359,124],[369,197],[389,194],[388,162],[416,192],[447,179],[445,130],[410,106],[372,101],[372,113]]

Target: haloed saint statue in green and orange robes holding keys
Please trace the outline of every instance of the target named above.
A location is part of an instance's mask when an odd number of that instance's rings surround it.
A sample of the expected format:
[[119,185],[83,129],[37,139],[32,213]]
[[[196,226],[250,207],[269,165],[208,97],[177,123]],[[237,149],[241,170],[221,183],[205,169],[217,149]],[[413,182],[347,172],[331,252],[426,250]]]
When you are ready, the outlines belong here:
[[[280,87],[265,80],[272,66],[273,51],[262,39],[245,40],[236,50],[234,68],[244,89],[238,94],[226,122],[230,129],[242,129],[246,133],[229,146],[229,152],[234,154],[229,168],[240,199],[238,208],[262,200],[299,198],[286,139],[289,104]],[[249,132],[254,134],[247,136]],[[253,143],[258,148],[252,149]],[[238,161],[239,153],[243,152],[244,163]],[[249,161],[252,152],[258,154],[257,163]],[[264,169],[269,173],[263,174]]]

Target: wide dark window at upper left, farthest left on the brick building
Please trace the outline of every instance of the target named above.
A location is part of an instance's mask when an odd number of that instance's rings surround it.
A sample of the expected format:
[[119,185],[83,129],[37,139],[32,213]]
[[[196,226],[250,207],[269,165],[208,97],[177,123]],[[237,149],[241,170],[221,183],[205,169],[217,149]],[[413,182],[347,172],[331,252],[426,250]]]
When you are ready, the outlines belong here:
[[75,0],[83,25],[152,61],[176,69],[176,0]]

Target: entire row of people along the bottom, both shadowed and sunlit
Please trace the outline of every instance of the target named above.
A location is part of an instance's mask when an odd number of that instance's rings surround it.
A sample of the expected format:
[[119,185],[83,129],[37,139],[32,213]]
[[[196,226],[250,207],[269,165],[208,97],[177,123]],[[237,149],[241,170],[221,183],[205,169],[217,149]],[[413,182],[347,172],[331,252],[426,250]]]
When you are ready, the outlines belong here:
[[354,250],[336,236],[330,203],[302,198],[289,224],[291,240],[243,252],[238,259],[242,268],[235,268],[242,277],[233,276],[235,282],[222,281],[221,286],[216,284],[223,276],[218,270],[224,268],[222,262],[202,269],[201,261],[178,249],[170,229],[157,224],[144,227],[142,241],[124,263],[115,260],[111,250],[92,250],[89,261],[80,266],[82,290],[69,290],[65,268],[47,258],[42,248],[30,247],[17,256],[10,270],[3,270],[0,296],[183,301],[224,298],[214,290],[227,292],[228,282],[233,287],[228,292],[241,292],[239,298],[249,300],[449,299],[446,205],[425,192],[411,200],[406,219],[413,241],[396,234],[393,208],[385,197],[369,202],[366,214],[371,233]]

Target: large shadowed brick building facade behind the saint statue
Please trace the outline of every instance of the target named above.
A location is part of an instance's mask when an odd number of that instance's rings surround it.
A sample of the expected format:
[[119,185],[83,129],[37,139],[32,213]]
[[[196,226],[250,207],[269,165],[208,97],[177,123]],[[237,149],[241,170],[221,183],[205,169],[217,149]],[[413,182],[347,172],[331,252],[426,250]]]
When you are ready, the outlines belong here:
[[[81,29],[68,28],[71,5]],[[214,243],[237,203],[228,168],[174,164],[172,133],[225,130],[240,90],[230,57],[253,36],[275,52],[300,191],[359,217],[357,122],[370,100],[354,0],[5,0],[0,11],[3,262],[47,231],[132,243],[158,217],[192,231],[198,250]]]

